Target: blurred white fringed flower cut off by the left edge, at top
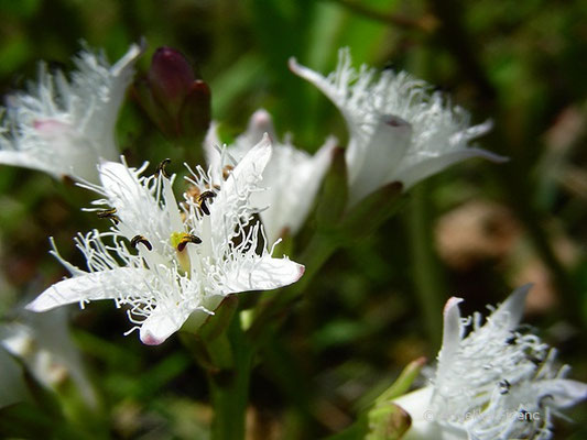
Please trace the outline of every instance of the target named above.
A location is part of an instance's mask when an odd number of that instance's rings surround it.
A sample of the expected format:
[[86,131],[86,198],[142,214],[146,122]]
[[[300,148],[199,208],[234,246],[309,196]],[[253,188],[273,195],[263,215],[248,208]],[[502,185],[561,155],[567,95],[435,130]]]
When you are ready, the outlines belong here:
[[81,52],[69,80],[42,64],[39,82],[31,82],[28,94],[7,98],[0,164],[96,182],[99,160],[118,160],[115,125],[140,54],[133,44],[110,66],[104,54]]

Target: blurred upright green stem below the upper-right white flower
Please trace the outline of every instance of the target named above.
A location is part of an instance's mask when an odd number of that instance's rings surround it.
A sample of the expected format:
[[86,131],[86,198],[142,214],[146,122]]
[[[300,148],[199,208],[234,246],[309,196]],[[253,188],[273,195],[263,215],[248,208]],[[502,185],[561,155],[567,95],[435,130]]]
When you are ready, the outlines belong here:
[[427,183],[421,183],[412,190],[409,212],[410,244],[412,248],[412,270],[414,285],[418,297],[426,331],[431,342],[441,344],[442,322],[442,283],[436,267],[432,224],[430,221],[430,200]]

